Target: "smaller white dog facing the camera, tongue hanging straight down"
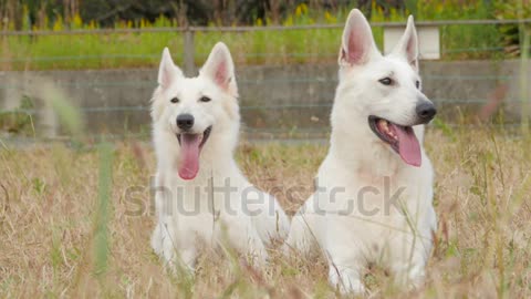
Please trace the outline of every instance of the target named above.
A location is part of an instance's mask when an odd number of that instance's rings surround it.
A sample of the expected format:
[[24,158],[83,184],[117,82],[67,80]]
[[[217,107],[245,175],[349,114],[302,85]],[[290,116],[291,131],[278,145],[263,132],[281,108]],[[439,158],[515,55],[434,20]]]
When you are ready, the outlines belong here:
[[185,78],[163,52],[152,110],[158,215],[152,246],[174,267],[194,270],[198,239],[261,264],[264,246],[289,231],[275,198],[253,187],[233,159],[240,125],[233,69],[223,43],[196,78]]

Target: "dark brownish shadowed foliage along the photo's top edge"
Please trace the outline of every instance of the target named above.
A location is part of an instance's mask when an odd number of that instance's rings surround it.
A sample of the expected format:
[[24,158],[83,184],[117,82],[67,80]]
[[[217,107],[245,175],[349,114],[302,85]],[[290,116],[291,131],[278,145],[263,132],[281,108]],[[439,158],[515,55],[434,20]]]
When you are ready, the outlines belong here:
[[[399,8],[404,1],[376,1],[384,8]],[[280,23],[287,14],[304,3],[311,9],[335,10],[344,7],[371,9],[371,0],[0,0],[2,19],[23,29],[24,22],[43,28],[58,18],[67,24],[74,16],[98,27],[117,21],[155,21],[160,16],[179,25],[246,25],[258,19]],[[27,20],[24,20],[24,18]],[[3,28],[6,24],[2,25]]]

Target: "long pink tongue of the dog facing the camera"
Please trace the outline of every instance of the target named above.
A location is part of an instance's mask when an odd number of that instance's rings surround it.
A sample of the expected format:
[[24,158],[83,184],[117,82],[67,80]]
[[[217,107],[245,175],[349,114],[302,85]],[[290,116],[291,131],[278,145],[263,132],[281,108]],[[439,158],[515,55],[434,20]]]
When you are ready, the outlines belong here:
[[183,179],[192,179],[199,172],[199,145],[201,144],[199,136],[199,134],[180,135],[183,161],[179,166],[179,176]]

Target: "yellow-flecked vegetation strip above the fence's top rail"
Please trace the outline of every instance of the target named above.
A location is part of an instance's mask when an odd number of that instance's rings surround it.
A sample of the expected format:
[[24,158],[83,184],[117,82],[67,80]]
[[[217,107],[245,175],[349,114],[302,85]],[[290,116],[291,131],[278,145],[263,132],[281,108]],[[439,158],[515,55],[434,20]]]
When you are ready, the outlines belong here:
[[373,20],[408,13],[419,20],[519,19],[530,18],[530,7],[529,0],[0,0],[2,29],[14,30],[139,28],[160,19],[181,27],[335,23],[352,8]]

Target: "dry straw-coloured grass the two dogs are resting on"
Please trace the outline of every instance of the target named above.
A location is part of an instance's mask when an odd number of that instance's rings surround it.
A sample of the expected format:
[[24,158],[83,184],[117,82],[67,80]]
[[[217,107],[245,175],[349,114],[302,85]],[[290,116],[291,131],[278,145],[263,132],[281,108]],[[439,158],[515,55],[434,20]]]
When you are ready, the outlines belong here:
[[[530,298],[529,140],[488,130],[430,131],[426,144],[437,171],[439,219],[428,281],[399,293],[382,270],[372,270],[366,282],[373,297]],[[287,259],[274,250],[263,272],[219,252],[206,252],[195,281],[167,272],[148,243],[152,150],[135,142],[114,148],[108,197],[98,194],[100,164],[111,158],[101,161],[105,147],[0,148],[0,297],[336,296],[322,258]],[[274,188],[294,212],[325,153],[323,145],[244,145],[238,157],[254,184]]]

